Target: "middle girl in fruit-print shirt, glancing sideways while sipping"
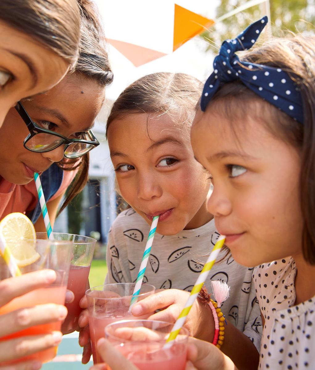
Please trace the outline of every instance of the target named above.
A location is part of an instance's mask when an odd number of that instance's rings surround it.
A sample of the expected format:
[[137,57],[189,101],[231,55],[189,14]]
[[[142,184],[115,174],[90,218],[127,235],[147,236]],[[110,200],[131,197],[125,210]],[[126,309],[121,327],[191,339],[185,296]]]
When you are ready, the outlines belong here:
[[[200,93],[200,81],[189,75],[147,75],[121,93],[108,117],[108,145],[119,191],[132,208],[118,215],[109,233],[106,283],[137,279],[153,216],[160,215],[144,282],[164,291],[135,305],[134,315],[159,309],[153,319],[175,322],[219,236],[206,208],[209,174],[194,159],[190,145]],[[222,349],[233,357],[241,345],[247,349],[245,362],[250,358],[257,368],[261,317],[252,268],[236,263],[227,250],[219,260],[205,286],[211,292],[212,279],[231,287],[222,312],[232,340]],[[194,317],[206,317],[207,325],[199,326]],[[197,302],[186,326],[192,336],[212,342],[210,307]]]

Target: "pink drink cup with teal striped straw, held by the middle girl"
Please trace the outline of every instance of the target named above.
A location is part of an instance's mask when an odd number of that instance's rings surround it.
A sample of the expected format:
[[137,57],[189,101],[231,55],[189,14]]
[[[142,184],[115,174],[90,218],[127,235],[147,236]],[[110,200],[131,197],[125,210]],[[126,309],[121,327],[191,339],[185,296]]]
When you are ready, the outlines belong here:
[[[105,326],[124,319],[147,319],[151,315],[134,317],[128,312],[134,287],[135,283],[117,283],[96,286],[86,291],[94,364],[103,362],[96,351],[96,343],[105,336]],[[143,284],[140,292],[138,300],[154,294],[155,287]]]

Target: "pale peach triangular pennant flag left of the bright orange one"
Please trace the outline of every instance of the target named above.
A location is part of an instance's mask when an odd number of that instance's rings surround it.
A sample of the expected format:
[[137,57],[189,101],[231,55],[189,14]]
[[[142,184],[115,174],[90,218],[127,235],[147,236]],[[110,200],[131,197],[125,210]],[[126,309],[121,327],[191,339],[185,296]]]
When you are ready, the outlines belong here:
[[164,57],[165,53],[148,49],[139,45],[125,43],[124,41],[107,39],[108,43],[114,46],[121,54],[133,63],[135,67],[148,63],[151,60]]

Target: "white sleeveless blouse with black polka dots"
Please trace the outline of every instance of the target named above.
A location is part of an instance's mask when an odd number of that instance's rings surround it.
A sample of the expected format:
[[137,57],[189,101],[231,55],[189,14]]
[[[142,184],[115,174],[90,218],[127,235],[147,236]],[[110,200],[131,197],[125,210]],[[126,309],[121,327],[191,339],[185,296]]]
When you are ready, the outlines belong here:
[[315,297],[294,306],[293,258],[257,266],[257,299],[265,318],[259,369],[315,369]]

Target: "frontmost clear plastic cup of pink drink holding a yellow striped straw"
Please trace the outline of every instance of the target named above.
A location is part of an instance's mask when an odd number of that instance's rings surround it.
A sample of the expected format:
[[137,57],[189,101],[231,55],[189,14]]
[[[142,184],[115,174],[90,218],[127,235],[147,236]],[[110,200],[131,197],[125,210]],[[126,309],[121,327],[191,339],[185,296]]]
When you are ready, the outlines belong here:
[[188,330],[182,328],[174,344],[163,348],[173,326],[164,321],[124,320],[108,324],[105,336],[140,370],[185,370]]

